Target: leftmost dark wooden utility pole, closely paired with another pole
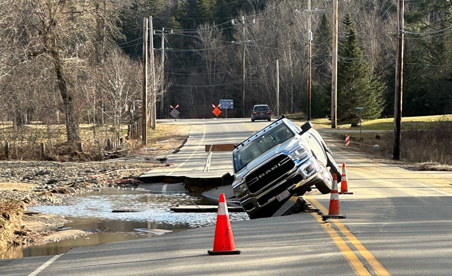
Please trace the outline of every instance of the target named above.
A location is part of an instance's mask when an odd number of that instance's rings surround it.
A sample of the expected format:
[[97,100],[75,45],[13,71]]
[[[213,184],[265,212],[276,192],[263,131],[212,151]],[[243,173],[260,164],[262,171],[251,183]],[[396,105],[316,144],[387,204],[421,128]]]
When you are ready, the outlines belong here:
[[142,142],[146,146],[148,130],[148,19],[143,18],[143,87],[142,87]]

